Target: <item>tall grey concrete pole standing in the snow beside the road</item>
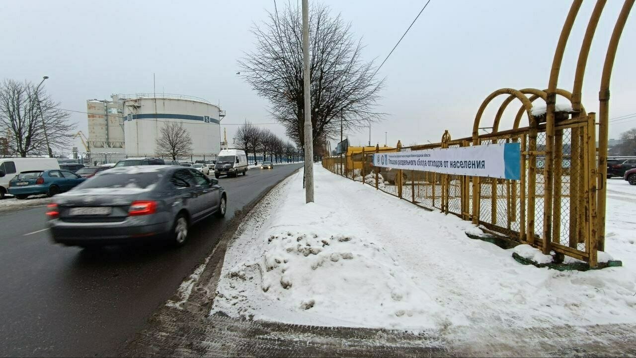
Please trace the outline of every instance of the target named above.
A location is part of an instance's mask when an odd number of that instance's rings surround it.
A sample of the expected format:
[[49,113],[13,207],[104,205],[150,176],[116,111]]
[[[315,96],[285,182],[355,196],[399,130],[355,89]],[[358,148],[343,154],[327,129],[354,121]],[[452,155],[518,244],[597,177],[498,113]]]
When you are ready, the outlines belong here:
[[314,202],[314,135],[309,86],[309,5],[303,0],[303,79],[305,80],[305,202]]

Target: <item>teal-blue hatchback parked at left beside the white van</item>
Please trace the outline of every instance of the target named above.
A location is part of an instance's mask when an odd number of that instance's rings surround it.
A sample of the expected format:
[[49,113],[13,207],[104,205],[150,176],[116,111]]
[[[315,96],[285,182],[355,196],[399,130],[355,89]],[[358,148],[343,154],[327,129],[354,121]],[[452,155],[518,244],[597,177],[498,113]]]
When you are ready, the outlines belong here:
[[54,196],[67,192],[86,178],[68,170],[32,170],[23,171],[9,182],[9,194],[17,199],[27,199],[31,195],[46,194]]

